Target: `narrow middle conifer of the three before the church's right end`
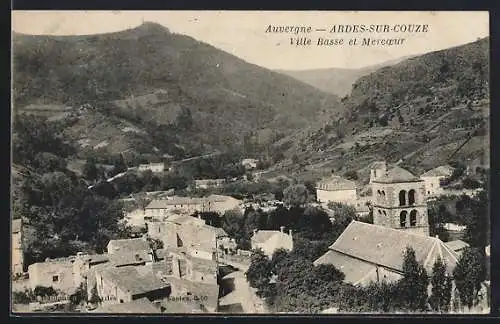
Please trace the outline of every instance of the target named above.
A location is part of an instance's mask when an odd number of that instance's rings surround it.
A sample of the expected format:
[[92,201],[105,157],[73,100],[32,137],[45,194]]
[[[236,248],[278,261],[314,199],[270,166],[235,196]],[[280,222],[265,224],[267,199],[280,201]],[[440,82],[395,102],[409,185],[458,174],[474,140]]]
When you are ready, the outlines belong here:
[[451,302],[452,278],[446,274],[446,264],[441,258],[438,258],[432,267],[431,284],[431,308],[437,312],[447,312]]

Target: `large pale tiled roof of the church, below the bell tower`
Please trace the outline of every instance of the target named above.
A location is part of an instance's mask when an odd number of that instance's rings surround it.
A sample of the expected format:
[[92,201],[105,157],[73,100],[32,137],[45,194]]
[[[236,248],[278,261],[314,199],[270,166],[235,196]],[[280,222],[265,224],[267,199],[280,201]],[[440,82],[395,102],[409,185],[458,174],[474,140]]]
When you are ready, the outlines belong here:
[[449,273],[457,263],[457,254],[438,238],[357,221],[347,226],[329,250],[402,272],[403,253],[408,246],[427,271],[432,271],[438,256],[447,264]]

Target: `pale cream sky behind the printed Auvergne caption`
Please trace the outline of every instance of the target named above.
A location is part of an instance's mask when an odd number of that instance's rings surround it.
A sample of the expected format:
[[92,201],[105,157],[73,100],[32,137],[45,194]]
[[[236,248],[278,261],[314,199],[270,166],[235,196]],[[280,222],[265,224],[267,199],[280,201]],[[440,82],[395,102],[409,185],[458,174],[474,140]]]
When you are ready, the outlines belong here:
[[[487,11],[13,11],[12,30],[34,35],[88,35],[156,22],[268,69],[360,68],[428,53],[489,36]],[[329,33],[333,25],[428,25],[426,33]],[[272,26],[311,26],[310,34],[266,33]],[[310,46],[290,44],[291,37]],[[325,39],[357,38],[357,46],[317,46]],[[397,46],[360,46],[363,38],[404,38]],[[15,49],[14,49],[15,50]]]

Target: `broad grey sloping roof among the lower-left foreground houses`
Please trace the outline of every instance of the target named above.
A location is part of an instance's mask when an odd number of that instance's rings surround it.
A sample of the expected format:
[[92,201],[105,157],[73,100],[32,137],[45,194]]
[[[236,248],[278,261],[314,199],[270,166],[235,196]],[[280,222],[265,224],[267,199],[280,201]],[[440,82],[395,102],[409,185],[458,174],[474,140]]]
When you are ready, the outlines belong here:
[[106,268],[102,270],[101,274],[120,289],[132,295],[144,294],[169,287],[168,283],[163,282],[154,275],[150,267],[144,266],[140,270],[138,268],[135,266]]

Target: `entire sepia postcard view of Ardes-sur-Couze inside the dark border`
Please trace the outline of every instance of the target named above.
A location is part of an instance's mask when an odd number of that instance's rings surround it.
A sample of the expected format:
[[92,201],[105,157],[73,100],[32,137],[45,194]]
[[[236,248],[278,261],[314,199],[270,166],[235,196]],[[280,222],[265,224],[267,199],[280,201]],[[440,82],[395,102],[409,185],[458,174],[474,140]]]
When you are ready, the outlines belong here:
[[489,19],[12,11],[11,316],[490,314]]

